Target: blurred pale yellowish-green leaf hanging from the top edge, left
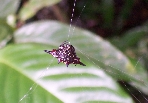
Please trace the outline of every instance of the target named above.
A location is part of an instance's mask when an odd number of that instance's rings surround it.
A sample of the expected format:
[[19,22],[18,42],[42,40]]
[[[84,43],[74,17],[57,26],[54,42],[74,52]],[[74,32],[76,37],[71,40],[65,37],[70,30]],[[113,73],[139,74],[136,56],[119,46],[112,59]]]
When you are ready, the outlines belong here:
[[60,1],[61,0],[29,0],[19,13],[20,19],[26,20],[32,17],[39,9],[54,5]]

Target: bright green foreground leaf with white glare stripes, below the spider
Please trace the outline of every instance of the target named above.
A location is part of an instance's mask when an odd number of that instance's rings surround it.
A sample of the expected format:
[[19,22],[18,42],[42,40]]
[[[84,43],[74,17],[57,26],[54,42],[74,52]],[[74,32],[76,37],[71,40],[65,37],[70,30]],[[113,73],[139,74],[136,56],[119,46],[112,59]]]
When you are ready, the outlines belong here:
[[0,103],[133,103],[101,69],[88,64],[68,68],[44,49],[15,44],[0,50]]

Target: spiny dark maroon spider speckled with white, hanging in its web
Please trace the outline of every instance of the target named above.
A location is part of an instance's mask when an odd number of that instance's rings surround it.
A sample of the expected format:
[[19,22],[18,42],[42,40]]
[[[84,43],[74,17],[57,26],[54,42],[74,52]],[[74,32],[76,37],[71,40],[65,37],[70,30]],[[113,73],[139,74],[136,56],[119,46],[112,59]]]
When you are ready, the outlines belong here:
[[53,49],[52,51],[44,50],[46,53],[51,54],[53,57],[58,59],[58,64],[63,62],[68,67],[69,64],[80,64],[86,66],[80,62],[80,58],[77,57],[75,48],[68,42],[64,41],[58,49]]

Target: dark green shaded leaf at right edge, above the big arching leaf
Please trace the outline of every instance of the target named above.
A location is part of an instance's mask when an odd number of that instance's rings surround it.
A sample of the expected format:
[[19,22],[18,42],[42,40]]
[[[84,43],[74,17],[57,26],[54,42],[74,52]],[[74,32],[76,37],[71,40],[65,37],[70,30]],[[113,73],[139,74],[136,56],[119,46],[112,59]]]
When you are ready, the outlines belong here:
[[122,51],[125,51],[128,47],[136,45],[143,37],[146,37],[148,33],[148,23],[139,27],[132,28],[123,34],[121,38],[113,38],[111,41]]

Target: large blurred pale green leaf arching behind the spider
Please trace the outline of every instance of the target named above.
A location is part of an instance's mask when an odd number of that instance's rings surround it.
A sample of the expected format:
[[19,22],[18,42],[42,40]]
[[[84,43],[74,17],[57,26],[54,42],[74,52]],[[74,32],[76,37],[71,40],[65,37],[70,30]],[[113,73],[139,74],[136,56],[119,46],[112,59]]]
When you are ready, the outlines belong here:
[[147,74],[142,67],[135,67],[135,64],[131,63],[122,52],[89,31],[78,28],[74,31],[70,28],[70,32],[68,31],[69,27],[59,22],[40,21],[19,29],[15,33],[15,41],[17,43],[36,42],[57,48],[68,39],[77,52],[83,54],[82,58],[89,61],[90,64],[105,69],[107,73],[117,79],[141,84],[140,89],[148,93]]

